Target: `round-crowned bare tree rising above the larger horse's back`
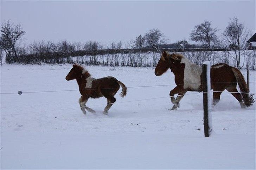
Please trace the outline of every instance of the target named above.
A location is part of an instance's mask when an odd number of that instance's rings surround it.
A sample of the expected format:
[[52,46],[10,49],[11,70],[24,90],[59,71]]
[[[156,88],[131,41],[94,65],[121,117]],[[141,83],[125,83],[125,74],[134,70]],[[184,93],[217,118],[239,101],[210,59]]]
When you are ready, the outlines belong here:
[[190,38],[192,41],[201,42],[208,48],[213,48],[218,44],[217,31],[217,28],[212,28],[211,22],[204,21],[195,26],[190,34]]

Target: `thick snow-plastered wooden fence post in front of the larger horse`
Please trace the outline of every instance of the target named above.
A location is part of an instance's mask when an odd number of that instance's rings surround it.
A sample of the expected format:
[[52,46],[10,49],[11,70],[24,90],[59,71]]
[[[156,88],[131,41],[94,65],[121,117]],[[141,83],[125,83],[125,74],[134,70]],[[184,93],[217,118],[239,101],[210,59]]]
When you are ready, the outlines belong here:
[[210,61],[205,61],[203,63],[202,69],[202,88],[204,101],[204,137],[209,137],[212,132]]

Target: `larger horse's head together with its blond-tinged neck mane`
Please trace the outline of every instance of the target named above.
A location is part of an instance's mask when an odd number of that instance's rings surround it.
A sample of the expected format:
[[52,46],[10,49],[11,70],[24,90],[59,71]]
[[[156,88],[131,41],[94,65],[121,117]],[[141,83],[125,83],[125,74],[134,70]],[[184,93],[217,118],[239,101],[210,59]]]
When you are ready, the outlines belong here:
[[161,58],[155,67],[155,75],[160,76],[164,74],[168,68],[172,67],[173,63],[180,61],[183,57],[181,54],[170,54],[168,51],[162,52]]

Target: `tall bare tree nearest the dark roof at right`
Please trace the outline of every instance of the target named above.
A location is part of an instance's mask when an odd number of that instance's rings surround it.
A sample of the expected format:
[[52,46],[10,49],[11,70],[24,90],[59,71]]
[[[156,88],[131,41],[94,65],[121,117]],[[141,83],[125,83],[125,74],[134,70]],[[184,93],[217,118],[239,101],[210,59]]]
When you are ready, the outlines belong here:
[[247,40],[249,38],[249,34],[250,32],[244,29],[244,24],[238,23],[238,19],[236,17],[230,19],[228,26],[224,30],[223,43],[235,52],[235,56],[231,53],[229,54],[233,59],[235,59],[237,68],[243,67],[240,66],[240,59],[242,55],[245,55],[245,50],[248,46]]

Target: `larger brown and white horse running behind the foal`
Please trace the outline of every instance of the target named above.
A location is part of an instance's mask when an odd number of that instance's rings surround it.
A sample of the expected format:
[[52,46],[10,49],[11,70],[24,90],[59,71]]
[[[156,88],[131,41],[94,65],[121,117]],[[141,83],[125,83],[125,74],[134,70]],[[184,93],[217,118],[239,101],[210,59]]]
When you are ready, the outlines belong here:
[[[170,91],[171,102],[174,104],[171,110],[179,107],[181,98],[187,91],[202,91],[202,68],[181,54],[170,54],[168,51],[162,52],[162,56],[155,68],[155,75],[160,76],[168,68],[171,69],[175,78],[176,87]],[[242,95],[237,91],[237,83]],[[223,90],[228,90],[240,103],[241,108],[250,107],[254,103],[253,95],[248,95],[248,86],[242,73],[228,64],[219,63],[211,66],[211,89],[213,91],[213,105],[220,100]],[[174,95],[178,94],[177,98]]]

